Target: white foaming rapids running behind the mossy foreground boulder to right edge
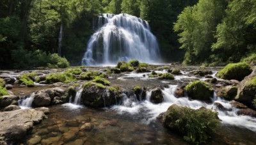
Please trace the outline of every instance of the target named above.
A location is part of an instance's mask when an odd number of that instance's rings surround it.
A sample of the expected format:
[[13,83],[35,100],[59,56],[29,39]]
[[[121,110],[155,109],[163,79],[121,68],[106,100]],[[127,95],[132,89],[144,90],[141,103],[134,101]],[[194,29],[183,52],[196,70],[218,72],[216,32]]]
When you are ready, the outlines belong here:
[[216,111],[218,111],[218,116],[223,123],[227,123],[229,125],[236,125],[239,127],[245,127],[256,132],[255,118],[252,118],[250,116],[237,115],[237,111],[239,109],[232,107],[227,100],[223,100],[223,99],[220,99],[219,97],[216,97],[215,93],[212,98],[212,103],[207,104],[199,100],[189,100],[188,97],[177,98],[174,96],[175,88],[177,88],[177,85],[170,85],[170,88],[164,88],[164,90],[162,90],[164,102],[161,104],[151,103],[149,101],[151,92],[147,92],[147,98],[142,102],[134,102],[128,97],[126,97],[123,101],[122,106],[113,106],[112,109],[118,111],[119,114],[123,114],[123,113],[140,114],[141,112],[146,113],[145,116],[147,116],[147,118],[141,121],[143,123],[150,123],[151,121],[156,120],[157,116],[160,113],[165,112],[168,109],[168,107],[170,107],[172,104],[177,104],[179,106],[188,106],[193,109],[206,107],[208,109],[215,110],[216,106],[214,106],[213,104],[214,102],[218,102],[222,104],[224,107],[226,107],[228,110],[230,110],[230,111],[220,111],[216,109]]

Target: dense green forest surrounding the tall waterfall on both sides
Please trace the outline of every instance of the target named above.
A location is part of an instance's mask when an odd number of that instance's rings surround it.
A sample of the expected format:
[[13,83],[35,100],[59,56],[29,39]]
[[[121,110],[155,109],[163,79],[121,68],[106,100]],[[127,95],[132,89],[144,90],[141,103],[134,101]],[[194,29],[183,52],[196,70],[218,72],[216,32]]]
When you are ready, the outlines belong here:
[[1,0],[0,67],[81,65],[100,13],[147,20],[164,62],[256,59],[255,11],[255,0]]

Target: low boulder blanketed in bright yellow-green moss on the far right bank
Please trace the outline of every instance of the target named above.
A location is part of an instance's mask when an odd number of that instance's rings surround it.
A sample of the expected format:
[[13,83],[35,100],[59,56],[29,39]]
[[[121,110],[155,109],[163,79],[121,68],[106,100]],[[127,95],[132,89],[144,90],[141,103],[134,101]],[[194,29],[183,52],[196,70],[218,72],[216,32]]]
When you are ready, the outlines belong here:
[[236,79],[238,81],[241,81],[251,72],[252,69],[248,64],[246,64],[245,62],[239,62],[236,64],[228,64],[217,73],[217,76],[222,79]]

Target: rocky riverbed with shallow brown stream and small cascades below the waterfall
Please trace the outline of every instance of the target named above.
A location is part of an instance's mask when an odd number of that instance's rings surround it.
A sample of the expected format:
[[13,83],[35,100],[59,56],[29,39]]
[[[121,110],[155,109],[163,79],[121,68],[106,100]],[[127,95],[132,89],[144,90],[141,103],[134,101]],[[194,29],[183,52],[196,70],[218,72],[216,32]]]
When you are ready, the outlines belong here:
[[[97,71],[101,78],[90,81],[73,74],[74,81],[46,83],[47,75],[67,69],[1,71],[10,94],[1,98],[1,144],[186,144],[157,120],[172,104],[218,111],[221,128],[209,144],[254,143],[256,113],[250,104],[236,99],[240,81],[216,76],[221,67],[168,64],[120,73],[113,67],[79,69],[80,74]],[[32,80],[42,80],[33,87],[15,83],[28,72],[36,72]],[[164,73],[174,79],[161,79]],[[214,89],[210,102],[187,95],[184,86],[196,80],[209,82]]]

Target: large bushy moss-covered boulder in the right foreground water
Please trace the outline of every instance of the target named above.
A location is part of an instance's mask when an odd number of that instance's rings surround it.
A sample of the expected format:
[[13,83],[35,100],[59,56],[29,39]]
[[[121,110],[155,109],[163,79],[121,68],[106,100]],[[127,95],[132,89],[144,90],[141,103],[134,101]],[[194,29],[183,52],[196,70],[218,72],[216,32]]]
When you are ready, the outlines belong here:
[[173,132],[179,132],[191,144],[202,144],[211,139],[220,126],[218,114],[211,109],[191,109],[173,104],[164,113],[163,123]]

